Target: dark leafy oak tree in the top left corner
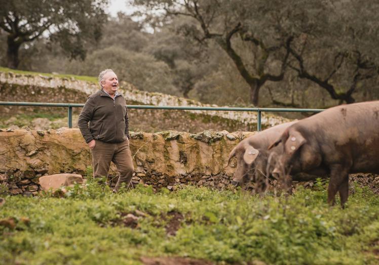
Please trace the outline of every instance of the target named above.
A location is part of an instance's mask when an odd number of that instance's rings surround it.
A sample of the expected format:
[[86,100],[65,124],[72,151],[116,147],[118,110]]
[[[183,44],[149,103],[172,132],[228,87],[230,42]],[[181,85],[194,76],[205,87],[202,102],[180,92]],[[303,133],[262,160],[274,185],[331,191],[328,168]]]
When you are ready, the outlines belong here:
[[98,40],[107,0],[0,0],[0,28],[7,33],[7,66],[17,68],[20,46],[42,36],[84,59],[86,42]]

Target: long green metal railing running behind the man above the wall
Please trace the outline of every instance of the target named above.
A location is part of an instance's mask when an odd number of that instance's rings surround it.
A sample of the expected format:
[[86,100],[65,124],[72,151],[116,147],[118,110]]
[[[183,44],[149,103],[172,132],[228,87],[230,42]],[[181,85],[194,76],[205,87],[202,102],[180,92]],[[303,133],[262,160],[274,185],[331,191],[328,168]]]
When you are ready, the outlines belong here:
[[[5,102],[0,106],[35,106],[35,107],[66,107],[68,108],[68,127],[72,128],[72,108],[82,108],[84,104],[74,103],[38,103],[38,102]],[[129,109],[159,109],[159,110],[216,110],[216,111],[252,111],[257,112],[257,130],[261,130],[262,112],[321,112],[323,109],[293,109],[293,108],[230,108],[230,107],[183,107],[183,106],[151,106],[127,105]]]

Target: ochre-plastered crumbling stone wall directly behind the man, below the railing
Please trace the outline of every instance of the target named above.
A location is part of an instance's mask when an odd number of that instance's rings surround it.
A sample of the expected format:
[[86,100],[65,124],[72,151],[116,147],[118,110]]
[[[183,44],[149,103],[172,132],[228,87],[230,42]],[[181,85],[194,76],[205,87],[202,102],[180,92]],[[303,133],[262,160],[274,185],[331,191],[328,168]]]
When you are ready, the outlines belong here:
[[[253,134],[132,132],[130,148],[135,167],[132,183],[170,190],[189,183],[224,187],[230,184],[236,166],[235,160],[226,166],[230,151]],[[79,129],[0,131],[0,182],[7,183],[12,194],[37,194],[41,190],[41,176],[55,173],[85,175],[88,166],[91,166],[91,155]],[[110,174],[114,173],[113,165]]]

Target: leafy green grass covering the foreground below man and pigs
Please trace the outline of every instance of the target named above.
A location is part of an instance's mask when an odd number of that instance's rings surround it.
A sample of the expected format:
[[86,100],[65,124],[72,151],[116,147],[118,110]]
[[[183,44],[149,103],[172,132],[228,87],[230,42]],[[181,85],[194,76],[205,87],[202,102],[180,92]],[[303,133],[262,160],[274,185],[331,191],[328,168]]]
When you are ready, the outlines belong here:
[[[146,216],[136,228],[125,215]],[[170,216],[180,228],[168,235]],[[93,182],[63,198],[6,197],[0,208],[4,264],[139,264],[142,256],[202,258],[216,263],[377,264],[379,198],[357,189],[346,209],[326,204],[325,187],[289,197],[241,190],[151,187],[112,194]],[[14,220],[15,226],[7,227]],[[375,256],[376,253],[376,256]]]

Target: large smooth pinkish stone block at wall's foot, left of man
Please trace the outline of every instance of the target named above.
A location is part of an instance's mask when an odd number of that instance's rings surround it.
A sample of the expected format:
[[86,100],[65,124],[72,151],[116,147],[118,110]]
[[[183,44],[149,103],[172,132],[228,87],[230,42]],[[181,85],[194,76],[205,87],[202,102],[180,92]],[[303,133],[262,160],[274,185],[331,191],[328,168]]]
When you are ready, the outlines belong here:
[[44,191],[48,191],[49,189],[52,189],[54,191],[62,186],[66,187],[75,183],[83,183],[82,175],[62,173],[41,176],[40,178],[40,185]]

